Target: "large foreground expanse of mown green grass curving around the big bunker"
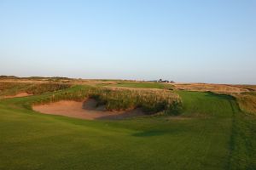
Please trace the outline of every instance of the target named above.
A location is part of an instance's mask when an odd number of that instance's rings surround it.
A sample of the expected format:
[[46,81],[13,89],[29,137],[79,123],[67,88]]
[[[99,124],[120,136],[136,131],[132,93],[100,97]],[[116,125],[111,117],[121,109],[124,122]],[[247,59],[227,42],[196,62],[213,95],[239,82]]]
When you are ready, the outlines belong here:
[[235,99],[178,94],[189,118],[85,121],[27,109],[52,94],[2,99],[0,169],[255,169],[255,122]]

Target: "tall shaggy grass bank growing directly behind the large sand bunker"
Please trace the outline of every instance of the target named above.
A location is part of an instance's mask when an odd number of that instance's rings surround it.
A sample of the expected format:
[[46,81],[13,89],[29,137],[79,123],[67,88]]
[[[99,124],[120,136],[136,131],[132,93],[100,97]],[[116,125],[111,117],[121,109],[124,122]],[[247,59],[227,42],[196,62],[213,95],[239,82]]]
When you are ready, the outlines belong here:
[[62,99],[81,101],[96,99],[99,105],[106,105],[108,111],[125,111],[143,108],[148,114],[165,111],[177,115],[181,109],[181,100],[177,94],[170,91],[96,88],[90,86],[75,86],[65,91],[52,94],[48,99],[40,100],[39,104],[55,102]]

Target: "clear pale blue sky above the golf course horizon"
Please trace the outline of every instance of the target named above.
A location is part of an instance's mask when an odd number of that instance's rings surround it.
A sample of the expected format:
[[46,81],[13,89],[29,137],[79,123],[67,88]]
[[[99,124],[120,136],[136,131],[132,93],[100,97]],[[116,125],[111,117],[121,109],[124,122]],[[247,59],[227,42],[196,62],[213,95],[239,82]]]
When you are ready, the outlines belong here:
[[0,75],[256,83],[255,0],[0,0]]

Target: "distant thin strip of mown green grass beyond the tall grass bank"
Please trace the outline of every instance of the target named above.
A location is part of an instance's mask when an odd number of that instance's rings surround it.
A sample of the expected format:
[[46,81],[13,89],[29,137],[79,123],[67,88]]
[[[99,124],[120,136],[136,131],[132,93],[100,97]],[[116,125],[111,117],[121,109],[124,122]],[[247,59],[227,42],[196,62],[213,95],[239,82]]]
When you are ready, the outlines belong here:
[[118,82],[116,84],[111,84],[110,86],[122,88],[173,88],[171,84],[165,84],[160,82]]

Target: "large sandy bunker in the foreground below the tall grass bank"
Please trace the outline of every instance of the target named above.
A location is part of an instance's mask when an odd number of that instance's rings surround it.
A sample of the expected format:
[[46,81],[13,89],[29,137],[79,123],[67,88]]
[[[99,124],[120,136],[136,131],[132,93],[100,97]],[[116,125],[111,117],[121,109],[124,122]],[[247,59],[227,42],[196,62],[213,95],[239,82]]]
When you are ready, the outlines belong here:
[[144,116],[141,109],[132,111],[106,111],[104,105],[96,106],[94,99],[84,102],[78,101],[58,101],[47,105],[34,105],[32,109],[45,114],[75,117],[87,120],[94,119],[124,119],[132,116]]

